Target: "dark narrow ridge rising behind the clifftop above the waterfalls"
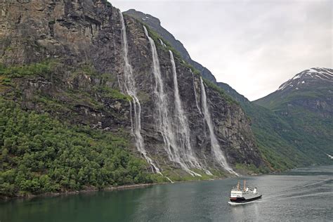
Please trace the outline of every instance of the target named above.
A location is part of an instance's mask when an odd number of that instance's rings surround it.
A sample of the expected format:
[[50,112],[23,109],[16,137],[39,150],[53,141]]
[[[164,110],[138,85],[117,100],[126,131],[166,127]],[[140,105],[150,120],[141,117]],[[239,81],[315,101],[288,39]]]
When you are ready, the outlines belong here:
[[124,14],[130,15],[131,17],[136,18],[137,20],[140,20],[141,22],[149,25],[150,29],[154,30],[163,39],[168,41],[169,44],[171,44],[171,46],[174,47],[181,54],[181,56],[186,62],[190,63],[190,65],[195,67],[195,69],[199,70],[200,73],[202,74],[202,77],[216,83],[214,75],[211,74],[211,72],[206,67],[192,60],[190,54],[183,46],[181,41],[178,41],[168,30],[164,29],[158,18],[155,18],[154,16],[149,14],[142,13],[141,11],[136,11],[135,9],[130,9],[129,11],[125,11]]

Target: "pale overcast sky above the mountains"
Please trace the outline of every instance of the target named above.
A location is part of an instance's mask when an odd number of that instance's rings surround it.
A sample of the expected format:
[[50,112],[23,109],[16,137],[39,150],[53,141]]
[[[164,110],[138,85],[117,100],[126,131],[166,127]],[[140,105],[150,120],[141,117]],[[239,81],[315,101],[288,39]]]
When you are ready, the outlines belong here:
[[161,20],[193,60],[249,100],[298,72],[333,67],[333,0],[109,0]]

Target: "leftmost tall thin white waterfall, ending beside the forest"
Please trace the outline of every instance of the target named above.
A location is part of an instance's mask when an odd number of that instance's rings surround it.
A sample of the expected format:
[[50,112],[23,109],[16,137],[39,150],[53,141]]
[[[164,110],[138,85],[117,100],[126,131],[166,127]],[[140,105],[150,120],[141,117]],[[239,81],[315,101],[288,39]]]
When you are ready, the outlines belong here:
[[[131,96],[133,100],[133,110],[134,115],[132,114],[132,103],[130,102],[131,107],[131,127],[133,135],[136,139],[136,148],[139,152],[145,157],[147,162],[152,167],[152,171],[155,170],[156,173],[161,174],[157,166],[152,162],[152,159],[148,157],[147,152],[145,150],[145,143],[143,141],[143,137],[141,135],[141,104],[138,100],[138,96],[136,94],[136,86],[135,80],[133,77],[133,70],[131,65],[129,64],[129,44],[127,43],[127,36],[126,36],[126,26],[124,21],[124,16],[119,11],[120,20],[122,22],[122,49],[123,49],[123,58],[124,58],[124,78],[122,79],[122,84],[119,86],[122,90],[122,93],[126,93]],[[132,118],[133,115],[133,118]]]

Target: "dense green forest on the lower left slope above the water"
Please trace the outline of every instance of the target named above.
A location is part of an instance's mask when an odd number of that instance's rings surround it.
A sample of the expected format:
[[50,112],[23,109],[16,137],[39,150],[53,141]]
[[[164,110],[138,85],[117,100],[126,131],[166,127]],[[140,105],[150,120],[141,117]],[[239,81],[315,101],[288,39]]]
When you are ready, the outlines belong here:
[[0,196],[152,183],[126,138],[70,127],[0,99]]

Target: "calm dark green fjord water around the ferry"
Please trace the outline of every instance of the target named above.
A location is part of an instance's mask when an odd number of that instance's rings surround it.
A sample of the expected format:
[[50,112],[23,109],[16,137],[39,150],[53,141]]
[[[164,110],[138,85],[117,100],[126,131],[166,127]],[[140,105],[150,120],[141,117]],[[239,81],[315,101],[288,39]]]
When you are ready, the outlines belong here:
[[230,206],[230,178],[0,202],[0,221],[332,221],[333,166],[247,181],[262,200]]

